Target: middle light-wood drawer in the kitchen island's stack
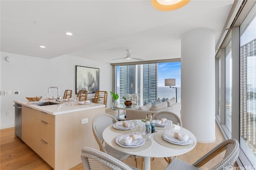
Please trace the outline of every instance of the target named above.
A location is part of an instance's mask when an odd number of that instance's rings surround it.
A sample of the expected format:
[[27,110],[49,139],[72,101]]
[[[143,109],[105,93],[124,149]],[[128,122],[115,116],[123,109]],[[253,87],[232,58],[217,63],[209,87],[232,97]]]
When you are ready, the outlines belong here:
[[55,128],[53,125],[37,119],[37,136],[54,146]]

